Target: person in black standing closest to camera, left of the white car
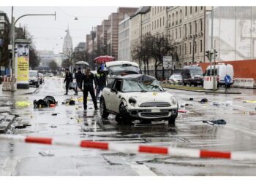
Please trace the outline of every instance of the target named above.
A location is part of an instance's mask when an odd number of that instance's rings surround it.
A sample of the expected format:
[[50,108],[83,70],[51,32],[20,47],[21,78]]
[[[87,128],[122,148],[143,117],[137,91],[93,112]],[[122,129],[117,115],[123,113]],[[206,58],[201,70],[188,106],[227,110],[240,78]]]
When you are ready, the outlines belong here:
[[87,97],[88,97],[88,92],[90,92],[92,101],[94,102],[94,109],[98,110],[99,108],[97,106],[97,100],[95,98],[95,93],[94,93],[94,84],[95,84],[95,87],[97,87],[97,82],[95,80],[94,74],[91,73],[91,70],[89,68],[86,69],[86,74],[83,75],[82,81],[83,81],[83,108],[87,109]]

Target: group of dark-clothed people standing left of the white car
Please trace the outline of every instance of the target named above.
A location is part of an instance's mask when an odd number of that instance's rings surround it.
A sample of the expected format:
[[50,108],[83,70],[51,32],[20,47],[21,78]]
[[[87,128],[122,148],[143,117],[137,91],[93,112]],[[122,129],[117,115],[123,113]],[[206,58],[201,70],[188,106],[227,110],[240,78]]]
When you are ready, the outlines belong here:
[[[66,69],[66,77],[64,79],[64,83],[66,82],[66,93],[68,94],[68,90],[70,85],[73,83],[73,77],[76,80],[76,86],[72,88],[75,91],[75,95],[78,95],[78,88],[83,91],[83,108],[87,109],[87,97],[88,92],[90,92],[92,101],[94,103],[94,109],[98,110],[97,100],[99,99],[99,92],[102,91],[106,86],[106,74],[102,71],[101,68],[98,68],[97,75],[91,73],[89,68],[86,69],[85,73],[82,73],[81,68],[78,68],[78,71],[74,71],[75,76],[71,74],[69,69]],[[95,89],[97,90],[96,96],[94,92],[94,85]]]

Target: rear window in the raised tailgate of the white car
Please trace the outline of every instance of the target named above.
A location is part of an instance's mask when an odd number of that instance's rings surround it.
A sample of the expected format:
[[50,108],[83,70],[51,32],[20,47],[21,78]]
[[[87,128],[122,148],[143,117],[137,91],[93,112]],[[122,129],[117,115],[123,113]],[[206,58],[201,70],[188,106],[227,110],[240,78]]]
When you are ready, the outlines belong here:
[[110,74],[118,75],[118,74],[140,74],[140,68],[131,65],[118,65],[111,66],[108,68]]

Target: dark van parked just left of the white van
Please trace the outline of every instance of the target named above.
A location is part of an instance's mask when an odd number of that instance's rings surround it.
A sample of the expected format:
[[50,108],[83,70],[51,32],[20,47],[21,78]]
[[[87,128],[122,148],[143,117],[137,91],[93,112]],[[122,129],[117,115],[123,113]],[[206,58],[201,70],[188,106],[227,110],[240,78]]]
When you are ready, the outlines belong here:
[[181,70],[182,82],[186,86],[192,84],[197,86],[197,84],[203,85],[203,70],[199,65],[184,66]]

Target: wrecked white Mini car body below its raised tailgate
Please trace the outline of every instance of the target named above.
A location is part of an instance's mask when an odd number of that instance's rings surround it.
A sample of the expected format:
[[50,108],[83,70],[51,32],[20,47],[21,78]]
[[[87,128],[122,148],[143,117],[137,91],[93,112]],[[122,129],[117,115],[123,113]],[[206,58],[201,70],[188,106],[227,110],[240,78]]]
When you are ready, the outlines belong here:
[[102,118],[116,115],[116,121],[129,124],[162,121],[175,124],[178,103],[169,92],[165,92],[153,76],[132,74],[115,76],[102,91],[99,111]]

